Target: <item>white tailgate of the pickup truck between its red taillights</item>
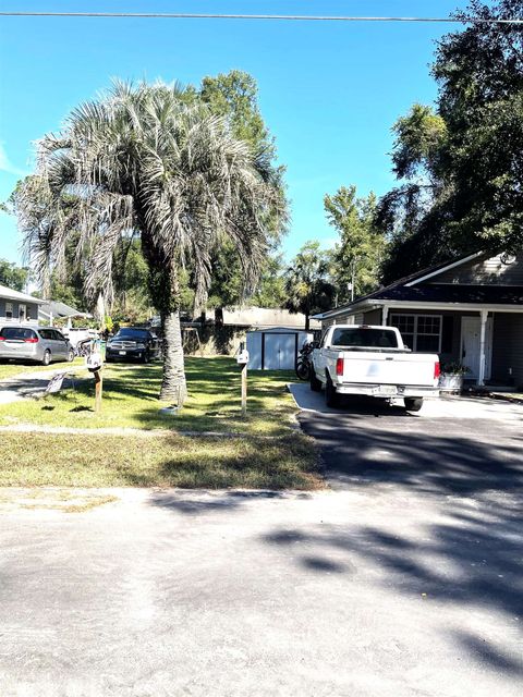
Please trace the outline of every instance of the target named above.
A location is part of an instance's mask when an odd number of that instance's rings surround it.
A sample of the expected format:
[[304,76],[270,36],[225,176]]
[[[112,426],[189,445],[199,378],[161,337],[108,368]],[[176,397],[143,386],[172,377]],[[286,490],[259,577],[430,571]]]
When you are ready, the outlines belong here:
[[433,387],[438,356],[413,353],[343,352],[341,382]]

